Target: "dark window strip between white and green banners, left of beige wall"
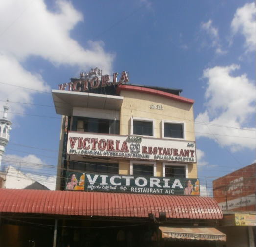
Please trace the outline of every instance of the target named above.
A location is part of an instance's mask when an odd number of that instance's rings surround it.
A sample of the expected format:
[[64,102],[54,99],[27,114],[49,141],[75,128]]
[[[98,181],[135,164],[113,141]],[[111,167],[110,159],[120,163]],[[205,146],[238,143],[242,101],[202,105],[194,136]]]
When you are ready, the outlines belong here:
[[75,162],[70,161],[70,169],[74,171],[87,172],[93,174],[119,174],[118,163],[101,162]]

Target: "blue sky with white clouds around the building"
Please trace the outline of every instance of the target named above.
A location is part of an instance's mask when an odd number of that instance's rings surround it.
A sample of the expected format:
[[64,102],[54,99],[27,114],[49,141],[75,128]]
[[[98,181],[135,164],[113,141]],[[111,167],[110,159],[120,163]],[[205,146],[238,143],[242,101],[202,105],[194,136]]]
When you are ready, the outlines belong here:
[[[54,185],[61,117],[52,89],[92,67],[195,100],[199,177],[255,162],[253,0],[0,2],[0,114],[13,122],[3,165]],[[36,164],[36,165],[35,165]],[[207,179],[206,179],[207,178]],[[210,186],[209,186],[210,190]]]

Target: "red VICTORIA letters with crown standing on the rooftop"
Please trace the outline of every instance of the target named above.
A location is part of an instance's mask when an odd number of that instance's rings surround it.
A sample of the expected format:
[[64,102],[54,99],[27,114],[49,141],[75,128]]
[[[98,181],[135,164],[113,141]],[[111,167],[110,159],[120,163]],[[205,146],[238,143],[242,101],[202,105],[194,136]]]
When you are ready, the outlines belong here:
[[117,84],[124,84],[129,82],[126,71],[123,71],[119,77],[119,73],[113,74],[113,80],[110,79],[110,75],[102,75],[102,71],[99,68],[91,69],[88,73],[81,73],[80,79],[75,82],[65,83],[59,85],[59,90],[74,91],[74,92],[87,92],[89,89],[97,89],[99,87],[107,87]]

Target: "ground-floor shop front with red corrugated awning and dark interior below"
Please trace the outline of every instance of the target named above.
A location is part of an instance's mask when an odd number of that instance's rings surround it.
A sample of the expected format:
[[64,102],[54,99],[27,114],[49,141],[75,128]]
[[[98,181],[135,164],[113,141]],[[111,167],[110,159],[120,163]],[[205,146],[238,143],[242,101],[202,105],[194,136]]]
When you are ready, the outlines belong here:
[[0,198],[1,247],[29,240],[35,247],[216,247],[225,240],[214,227],[222,212],[207,197],[0,189]]

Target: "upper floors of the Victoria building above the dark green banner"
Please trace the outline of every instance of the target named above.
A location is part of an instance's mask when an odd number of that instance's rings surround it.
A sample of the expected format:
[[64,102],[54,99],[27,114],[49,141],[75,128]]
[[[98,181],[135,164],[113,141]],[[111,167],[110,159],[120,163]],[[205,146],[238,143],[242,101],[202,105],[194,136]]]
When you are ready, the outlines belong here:
[[[123,79],[128,80],[126,72]],[[197,179],[194,101],[180,96],[182,90],[115,80],[107,86],[103,79],[95,89],[83,85],[81,93],[79,83],[86,80],[72,79],[72,86],[53,90],[56,112],[63,116],[57,176],[62,179],[56,189],[65,189],[69,170]]]

